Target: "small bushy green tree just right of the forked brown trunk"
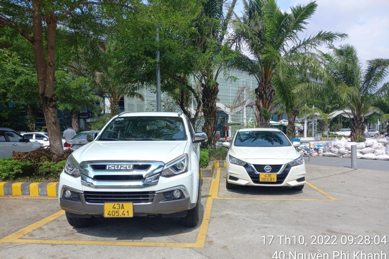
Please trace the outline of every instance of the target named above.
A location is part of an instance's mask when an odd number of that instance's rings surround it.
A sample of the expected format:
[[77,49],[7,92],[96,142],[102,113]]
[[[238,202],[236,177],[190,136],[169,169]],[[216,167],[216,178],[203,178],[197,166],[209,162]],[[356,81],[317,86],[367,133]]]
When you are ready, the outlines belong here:
[[55,72],[56,89],[58,96],[58,109],[70,113],[71,124],[74,131],[79,129],[79,111],[88,107],[94,110],[95,103],[101,98],[91,89],[92,80],[86,77],[78,77],[65,71]]

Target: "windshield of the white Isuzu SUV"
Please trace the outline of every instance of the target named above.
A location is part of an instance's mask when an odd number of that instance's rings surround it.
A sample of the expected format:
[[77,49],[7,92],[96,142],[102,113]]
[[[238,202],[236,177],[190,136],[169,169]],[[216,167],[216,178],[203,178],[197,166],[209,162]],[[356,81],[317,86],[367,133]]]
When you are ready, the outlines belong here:
[[186,140],[186,134],[179,117],[133,116],[112,120],[98,140]]

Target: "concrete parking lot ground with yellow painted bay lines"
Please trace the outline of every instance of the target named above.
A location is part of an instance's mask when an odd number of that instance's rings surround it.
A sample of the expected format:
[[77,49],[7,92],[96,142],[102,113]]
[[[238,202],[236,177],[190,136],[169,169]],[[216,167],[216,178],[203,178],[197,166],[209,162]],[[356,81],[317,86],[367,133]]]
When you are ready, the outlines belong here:
[[[307,165],[307,173],[303,191],[230,191],[225,169],[218,168],[203,180],[196,228],[182,227],[178,219],[134,218],[98,219],[90,228],[75,229],[57,200],[0,199],[0,258],[271,258],[276,251],[387,250],[387,244],[340,244],[344,235],[389,234],[387,171]],[[335,236],[339,244],[312,244],[319,235]],[[263,236],[275,240],[263,244]],[[303,236],[307,244],[283,243],[281,236]]]

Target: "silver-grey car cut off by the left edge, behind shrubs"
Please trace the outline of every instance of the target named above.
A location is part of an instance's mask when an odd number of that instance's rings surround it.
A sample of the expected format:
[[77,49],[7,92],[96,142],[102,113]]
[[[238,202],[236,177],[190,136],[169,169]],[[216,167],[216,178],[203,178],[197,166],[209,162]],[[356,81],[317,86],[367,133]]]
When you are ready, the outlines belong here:
[[30,152],[40,147],[41,143],[30,142],[11,128],[0,127],[0,158],[12,157],[12,151]]

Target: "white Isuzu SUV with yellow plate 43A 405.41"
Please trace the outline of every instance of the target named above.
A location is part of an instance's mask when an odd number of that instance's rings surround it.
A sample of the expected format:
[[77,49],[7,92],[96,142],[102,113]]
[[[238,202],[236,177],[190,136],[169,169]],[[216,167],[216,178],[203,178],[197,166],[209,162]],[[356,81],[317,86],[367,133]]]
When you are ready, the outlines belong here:
[[59,181],[71,226],[155,215],[199,223],[199,143],[207,137],[195,134],[185,115],[124,112],[88,139],[68,157]]

